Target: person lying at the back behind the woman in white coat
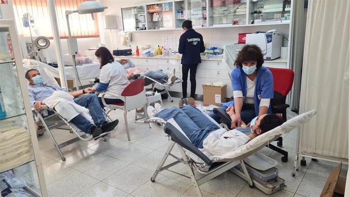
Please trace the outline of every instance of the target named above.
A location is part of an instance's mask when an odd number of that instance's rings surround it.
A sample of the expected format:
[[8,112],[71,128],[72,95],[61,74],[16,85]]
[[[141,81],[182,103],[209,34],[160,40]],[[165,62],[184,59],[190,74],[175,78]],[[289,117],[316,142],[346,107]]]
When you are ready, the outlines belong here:
[[133,77],[134,75],[140,74],[140,75],[144,75],[146,77],[151,77],[154,79],[165,80],[168,82],[168,84],[173,84],[176,81],[175,69],[172,69],[170,72],[163,72],[162,70],[146,72],[146,71],[143,71],[143,70],[138,69],[136,67],[130,68],[128,60],[126,60],[126,59],[119,60],[119,63],[124,66],[124,69],[126,72],[126,77],[128,79],[130,77]]

